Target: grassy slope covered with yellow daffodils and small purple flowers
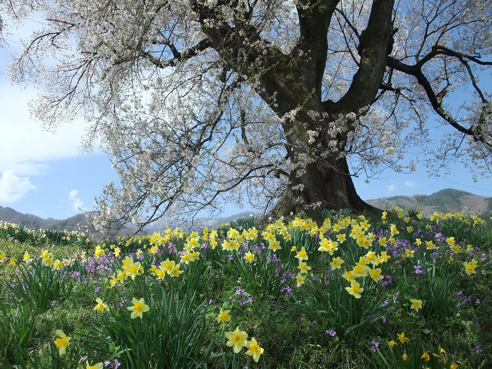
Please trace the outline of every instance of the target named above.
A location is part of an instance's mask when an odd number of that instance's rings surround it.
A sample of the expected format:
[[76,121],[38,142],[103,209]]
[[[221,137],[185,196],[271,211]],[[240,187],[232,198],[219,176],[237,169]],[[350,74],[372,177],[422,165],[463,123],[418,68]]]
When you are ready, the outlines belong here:
[[491,250],[398,209],[95,245],[0,222],[0,368],[487,368]]

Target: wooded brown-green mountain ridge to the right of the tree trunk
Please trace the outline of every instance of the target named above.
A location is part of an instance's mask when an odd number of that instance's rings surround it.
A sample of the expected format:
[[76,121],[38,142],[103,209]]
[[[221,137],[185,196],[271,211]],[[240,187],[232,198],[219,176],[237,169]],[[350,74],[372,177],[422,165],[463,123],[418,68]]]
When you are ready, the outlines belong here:
[[391,209],[393,206],[412,209],[420,206],[422,214],[430,216],[434,212],[479,215],[482,219],[492,216],[492,197],[478,196],[469,192],[445,189],[431,195],[392,196],[367,200],[367,203],[379,209]]

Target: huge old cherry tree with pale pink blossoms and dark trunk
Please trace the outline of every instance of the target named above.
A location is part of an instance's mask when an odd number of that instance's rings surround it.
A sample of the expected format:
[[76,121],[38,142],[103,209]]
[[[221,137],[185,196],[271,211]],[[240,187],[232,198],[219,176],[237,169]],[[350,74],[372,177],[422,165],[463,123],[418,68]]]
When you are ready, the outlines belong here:
[[[458,158],[490,173],[489,0],[1,4],[2,37],[44,24],[11,65],[42,91],[34,114],[84,117],[87,148],[113,158],[100,227],[245,198],[274,214],[366,209],[352,176],[413,170],[409,147],[435,170]],[[436,119],[453,130],[441,145]]]

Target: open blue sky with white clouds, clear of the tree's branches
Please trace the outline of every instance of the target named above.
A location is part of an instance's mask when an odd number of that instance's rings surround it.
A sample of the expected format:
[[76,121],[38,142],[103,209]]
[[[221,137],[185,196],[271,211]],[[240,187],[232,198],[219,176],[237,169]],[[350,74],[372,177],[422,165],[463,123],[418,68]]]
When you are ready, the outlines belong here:
[[[84,134],[81,121],[60,127],[56,133],[42,130],[30,117],[27,106],[37,92],[12,86],[5,72],[11,51],[0,49],[0,206],[56,219],[73,216],[80,212],[78,208],[91,210],[94,197],[103,186],[117,179],[110,158],[101,152],[80,152],[80,138]],[[444,188],[492,196],[492,179],[473,182],[463,166],[450,168],[452,174],[444,178],[428,178],[425,169],[417,167],[411,174],[388,170],[369,183],[364,182],[365,178],[355,178],[354,182],[364,200],[429,195]],[[222,216],[239,211],[226,206]]]

